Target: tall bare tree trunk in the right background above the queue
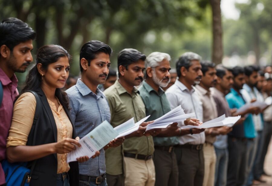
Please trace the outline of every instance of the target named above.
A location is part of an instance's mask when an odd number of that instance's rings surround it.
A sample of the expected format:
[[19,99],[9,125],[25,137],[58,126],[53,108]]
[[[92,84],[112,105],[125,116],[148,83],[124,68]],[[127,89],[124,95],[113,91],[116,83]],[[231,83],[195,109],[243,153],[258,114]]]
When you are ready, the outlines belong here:
[[212,6],[212,62],[222,63],[222,24],[221,24],[221,0],[210,0]]

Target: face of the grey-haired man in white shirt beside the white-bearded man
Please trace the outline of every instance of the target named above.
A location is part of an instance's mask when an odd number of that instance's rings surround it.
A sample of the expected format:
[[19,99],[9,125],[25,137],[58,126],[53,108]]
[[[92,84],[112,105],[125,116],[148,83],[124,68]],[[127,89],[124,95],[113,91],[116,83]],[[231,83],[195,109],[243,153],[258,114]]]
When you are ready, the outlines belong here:
[[191,66],[188,68],[188,70],[185,68],[183,76],[184,79],[190,84],[199,84],[201,81],[201,78],[203,76],[201,71],[201,65],[198,60],[192,60]]

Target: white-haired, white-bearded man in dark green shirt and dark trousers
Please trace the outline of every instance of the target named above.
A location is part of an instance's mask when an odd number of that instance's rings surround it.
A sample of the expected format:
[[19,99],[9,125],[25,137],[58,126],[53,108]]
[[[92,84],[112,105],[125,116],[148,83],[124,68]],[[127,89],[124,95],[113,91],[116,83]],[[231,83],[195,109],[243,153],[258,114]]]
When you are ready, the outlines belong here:
[[[146,80],[139,88],[143,99],[146,115],[151,115],[147,121],[155,120],[169,112],[170,104],[161,87],[166,87],[170,82],[170,55],[161,52],[153,52],[147,56]],[[197,125],[193,123],[190,125]],[[170,125],[160,132],[154,140],[154,165],[156,171],[155,186],[177,186],[178,166],[174,146],[179,144],[176,136],[189,134],[189,129],[181,130],[177,123]],[[172,136],[172,137],[171,137]]]

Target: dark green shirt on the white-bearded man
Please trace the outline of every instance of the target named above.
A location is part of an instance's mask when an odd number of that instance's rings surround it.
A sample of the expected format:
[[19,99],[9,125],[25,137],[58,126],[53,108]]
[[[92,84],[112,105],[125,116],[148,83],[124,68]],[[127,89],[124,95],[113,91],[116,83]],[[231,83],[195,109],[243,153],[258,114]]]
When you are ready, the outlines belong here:
[[[159,87],[159,91],[154,90],[149,84],[144,81],[139,88],[140,95],[144,101],[146,115],[151,115],[147,121],[152,121],[160,118],[169,112],[170,104],[164,93],[164,90]],[[155,146],[174,146],[179,144],[177,137],[153,137]]]

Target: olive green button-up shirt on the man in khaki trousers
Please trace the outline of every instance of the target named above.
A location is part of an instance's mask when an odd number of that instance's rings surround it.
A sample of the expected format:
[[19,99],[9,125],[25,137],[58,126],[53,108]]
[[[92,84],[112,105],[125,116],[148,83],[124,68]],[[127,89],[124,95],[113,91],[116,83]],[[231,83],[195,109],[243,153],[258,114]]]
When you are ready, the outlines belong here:
[[[116,81],[114,85],[104,91],[111,111],[111,125],[116,127],[134,117],[137,122],[145,117],[144,102],[137,88],[132,94]],[[109,148],[105,151],[106,173],[120,175],[123,173],[123,152],[151,155],[154,153],[152,136],[131,137],[125,139],[122,146]]]

